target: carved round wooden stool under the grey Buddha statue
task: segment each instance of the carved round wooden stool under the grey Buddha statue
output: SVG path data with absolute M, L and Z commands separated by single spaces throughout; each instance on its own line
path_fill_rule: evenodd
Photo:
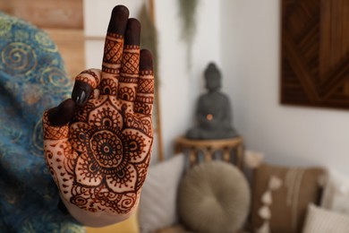
M 174 151 L 176 153 L 189 151 L 191 167 L 198 162 L 200 152 L 204 155 L 205 161 L 212 160 L 217 151 L 221 151 L 223 160 L 229 162 L 234 152 L 235 165 L 243 168 L 243 138 L 234 137 L 230 139 L 217 140 L 192 140 L 179 137 L 175 140 Z

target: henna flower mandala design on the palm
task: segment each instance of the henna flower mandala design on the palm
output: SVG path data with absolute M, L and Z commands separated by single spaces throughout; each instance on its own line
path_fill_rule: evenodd
M 79 154 L 72 159 L 71 202 L 82 209 L 125 213 L 138 200 L 145 179 L 140 165 L 149 165 L 152 135 L 127 121 L 121 105 L 112 96 L 91 99 L 70 125 L 69 141 Z

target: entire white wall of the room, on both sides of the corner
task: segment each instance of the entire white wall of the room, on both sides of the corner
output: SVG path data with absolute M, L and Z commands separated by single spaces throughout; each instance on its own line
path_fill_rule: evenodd
M 95 22 L 87 34 L 96 36 L 104 33 L 107 22 L 100 20 L 108 20 L 113 5 L 126 4 L 134 16 L 140 1 L 85 0 L 85 7 L 86 3 L 85 17 Z M 223 91 L 233 104 L 234 126 L 248 149 L 263 152 L 271 163 L 325 165 L 349 174 L 349 112 L 279 104 L 279 0 L 201 0 L 190 72 L 180 40 L 177 0 L 155 3 L 166 157 L 173 153 L 175 137 L 192 125 L 202 71 L 215 61 L 223 73 Z M 100 64 L 102 46 L 96 40 L 87 43 L 89 66 Z

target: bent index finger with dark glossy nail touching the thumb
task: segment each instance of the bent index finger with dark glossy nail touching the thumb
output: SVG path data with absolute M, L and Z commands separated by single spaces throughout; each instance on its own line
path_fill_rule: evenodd
M 72 89 L 72 99 L 76 105 L 84 106 L 89 98 L 96 98 L 91 93 L 98 87 L 100 80 L 101 71 L 98 69 L 89 69 L 76 76 Z

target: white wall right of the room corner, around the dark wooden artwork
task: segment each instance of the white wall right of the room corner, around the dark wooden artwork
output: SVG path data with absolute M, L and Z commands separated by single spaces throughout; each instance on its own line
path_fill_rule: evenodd
M 349 174 L 349 111 L 279 104 L 279 2 L 222 0 L 222 66 L 234 125 L 268 162 Z

